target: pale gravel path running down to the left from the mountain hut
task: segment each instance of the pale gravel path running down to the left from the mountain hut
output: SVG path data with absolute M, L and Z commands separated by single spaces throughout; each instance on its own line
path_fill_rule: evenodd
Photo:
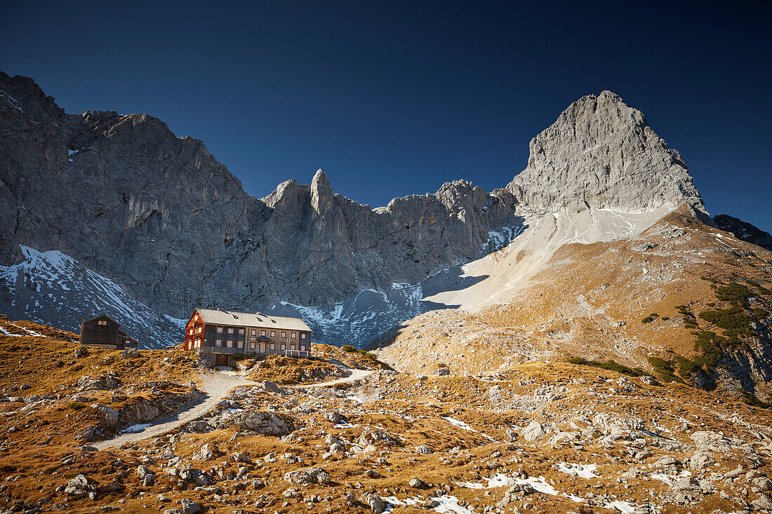
M 194 420 L 205 414 L 209 409 L 215 406 L 218 401 L 228 395 L 234 387 L 242 385 L 255 384 L 252 380 L 239 377 L 233 371 L 218 371 L 213 374 L 201 374 L 199 375 L 200 383 L 198 388 L 204 391 L 205 397 L 197 404 L 193 404 L 188 407 L 186 411 L 179 411 L 171 414 L 167 418 L 162 419 L 157 424 L 151 424 L 151 426 L 145 428 L 143 431 L 134 432 L 130 434 L 121 434 L 107 441 L 99 441 L 93 443 L 93 447 L 100 450 L 106 448 L 113 448 L 115 446 L 125 445 L 126 443 L 132 443 L 141 441 L 147 438 L 153 438 L 157 435 L 164 434 L 164 432 L 170 431 L 173 428 L 177 428 L 181 424 L 185 424 L 188 421 Z

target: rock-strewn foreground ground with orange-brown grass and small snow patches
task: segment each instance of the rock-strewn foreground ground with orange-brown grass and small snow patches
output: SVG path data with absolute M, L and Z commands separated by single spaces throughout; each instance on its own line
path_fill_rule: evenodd
M 195 362 L 96 350 L 60 377 L 25 350 L 36 340 L 0 336 L 12 367 L 43 363 L 36 388 L 11 391 L 23 381 L 3 360 L 2 512 L 772 512 L 770 411 L 685 384 L 565 363 L 373 367 L 336 387 L 236 387 L 164 435 L 97 451 L 76 435 L 113 404 L 83 385 L 113 377 L 127 394 L 140 382 L 120 363 L 144 359 L 144 380 L 182 387 Z M 64 362 L 76 345 L 60 344 Z M 73 410 L 73 394 L 93 403 Z

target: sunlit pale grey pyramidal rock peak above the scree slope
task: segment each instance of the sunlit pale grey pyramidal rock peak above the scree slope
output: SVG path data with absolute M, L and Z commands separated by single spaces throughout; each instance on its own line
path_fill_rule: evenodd
M 528 166 L 508 189 L 521 204 L 547 211 L 682 203 L 704 210 L 681 154 L 611 91 L 581 97 L 534 137 Z

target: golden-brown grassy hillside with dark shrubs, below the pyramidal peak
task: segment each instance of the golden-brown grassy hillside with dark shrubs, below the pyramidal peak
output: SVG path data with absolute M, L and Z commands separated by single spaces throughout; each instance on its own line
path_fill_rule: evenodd
M 506 254 L 493 255 L 499 266 Z M 703 224 L 685 205 L 635 237 L 562 246 L 509 301 L 422 314 L 373 347 L 396 369 L 425 374 L 614 360 L 770 402 L 770 289 L 772 253 Z

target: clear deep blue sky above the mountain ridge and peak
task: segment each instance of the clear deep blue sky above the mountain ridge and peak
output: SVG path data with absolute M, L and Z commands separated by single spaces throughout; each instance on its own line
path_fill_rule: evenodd
M 67 112 L 159 117 L 259 197 L 318 167 L 374 207 L 456 178 L 490 191 L 608 89 L 711 214 L 772 232 L 767 2 L 3 3 L 0 69 Z

